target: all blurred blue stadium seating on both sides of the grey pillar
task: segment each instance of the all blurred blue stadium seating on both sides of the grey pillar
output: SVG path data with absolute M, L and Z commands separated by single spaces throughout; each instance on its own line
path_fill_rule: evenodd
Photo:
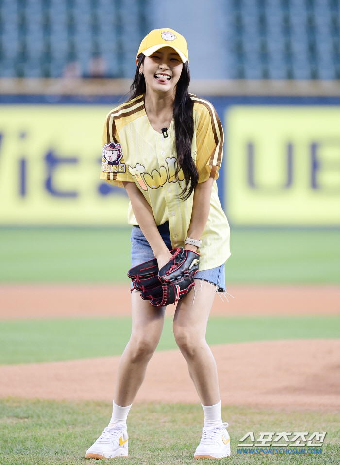
M 210 1 L 228 25 L 225 79 L 340 79 L 339 0 Z M 131 77 L 141 38 L 158 27 L 151 9 L 150 0 L 0 0 L 0 77 Z

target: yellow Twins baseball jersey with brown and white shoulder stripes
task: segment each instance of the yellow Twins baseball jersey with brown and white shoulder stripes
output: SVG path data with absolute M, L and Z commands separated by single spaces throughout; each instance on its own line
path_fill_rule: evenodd
M 216 179 L 223 156 L 223 129 L 213 105 L 190 94 L 194 102 L 192 158 L 199 172 L 199 182 L 206 181 L 216 167 L 210 212 L 199 249 L 200 271 L 222 265 L 230 256 L 229 224 L 217 195 Z M 152 207 L 157 226 L 169 221 L 173 248 L 184 247 L 190 225 L 193 194 L 179 200 L 184 186 L 183 172 L 176 180 L 177 163 L 173 122 L 168 137 L 151 126 L 144 107 L 144 97 L 123 103 L 106 117 L 101 179 L 123 187 L 123 181 L 135 182 Z M 128 223 L 138 225 L 129 205 Z

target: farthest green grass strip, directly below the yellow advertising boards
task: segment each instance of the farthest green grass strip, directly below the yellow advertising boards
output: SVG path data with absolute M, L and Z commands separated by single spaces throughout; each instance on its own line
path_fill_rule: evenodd
M 130 229 L 0 229 L 0 282 L 128 282 Z M 340 283 L 340 231 L 233 229 L 228 283 Z

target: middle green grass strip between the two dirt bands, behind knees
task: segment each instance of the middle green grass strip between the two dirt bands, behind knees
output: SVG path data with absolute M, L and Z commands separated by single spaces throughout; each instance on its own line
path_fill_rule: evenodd
M 0 364 L 52 362 L 122 354 L 130 318 L 0 321 Z M 339 338 L 339 316 L 211 317 L 207 342 Z M 166 318 L 157 350 L 177 348 L 172 319 Z

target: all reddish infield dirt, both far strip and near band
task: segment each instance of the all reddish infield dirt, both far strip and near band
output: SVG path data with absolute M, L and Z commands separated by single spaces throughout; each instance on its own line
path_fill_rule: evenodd
M 339 314 L 339 286 L 230 286 L 214 315 Z M 3 285 L 0 318 L 129 315 L 127 286 Z M 171 314 L 170 306 L 167 313 Z M 285 409 L 340 411 L 340 340 L 212 346 L 221 401 Z M 120 357 L 0 366 L 0 396 L 112 401 Z M 179 350 L 156 352 L 136 402 L 198 403 Z

